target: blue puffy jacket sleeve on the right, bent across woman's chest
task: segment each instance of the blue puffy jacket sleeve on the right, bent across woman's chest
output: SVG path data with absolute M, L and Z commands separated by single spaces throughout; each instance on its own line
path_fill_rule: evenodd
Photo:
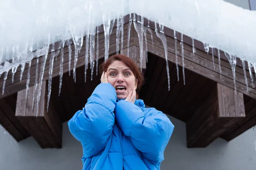
M 128 101 L 116 103 L 116 121 L 122 132 L 128 136 L 134 147 L 144 158 L 153 163 L 163 161 L 163 152 L 172 135 L 174 126 L 162 112 L 147 108 L 143 113 L 140 107 Z

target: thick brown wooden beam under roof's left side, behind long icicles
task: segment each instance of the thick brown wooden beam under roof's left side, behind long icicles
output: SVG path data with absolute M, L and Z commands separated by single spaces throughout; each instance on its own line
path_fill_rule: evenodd
M 47 82 L 44 81 L 42 84 L 38 105 L 36 100 L 38 89 L 36 89 L 35 92 L 34 102 L 33 92 L 34 86 L 29 88 L 27 95 L 26 89 L 18 92 L 15 115 L 42 148 L 61 148 L 62 123 L 51 102 L 49 104 L 48 112 L 46 110 Z

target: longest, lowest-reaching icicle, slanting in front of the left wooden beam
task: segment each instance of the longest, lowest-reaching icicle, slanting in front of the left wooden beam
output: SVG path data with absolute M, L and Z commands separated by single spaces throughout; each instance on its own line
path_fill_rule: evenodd
M 48 40 L 44 46 L 46 47 L 46 54 L 44 57 L 42 57 L 41 61 L 41 70 L 40 70 L 40 77 L 39 77 L 39 85 L 38 85 L 38 93 L 37 93 L 37 100 L 36 100 L 36 116 L 38 116 L 38 109 L 39 109 L 39 102 L 40 102 L 40 96 L 41 96 L 41 90 L 42 90 L 42 84 L 43 84 L 43 78 L 44 78 L 44 69 L 45 69 L 45 64 L 46 60 L 48 57 L 48 52 L 49 52 L 49 41 L 50 41 L 50 34 L 48 35 Z

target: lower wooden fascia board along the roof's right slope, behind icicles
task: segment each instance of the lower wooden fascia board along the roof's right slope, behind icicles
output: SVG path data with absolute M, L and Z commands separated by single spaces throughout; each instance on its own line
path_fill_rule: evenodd
M 150 43 L 150 42 L 148 42 Z M 138 39 L 136 37 L 134 37 L 134 44 L 137 45 L 138 44 Z M 159 47 L 157 46 L 157 44 L 154 45 L 154 51 L 153 49 L 150 48 L 150 46 L 148 46 L 148 51 L 152 52 L 162 58 L 165 58 L 165 53 L 164 53 L 164 49 L 163 47 Z M 172 49 L 172 50 L 169 50 Z M 172 52 L 170 52 L 172 51 Z M 175 53 L 174 53 L 174 47 L 173 46 L 168 46 L 168 60 L 172 61 L 173 63 L 175 63 Z M 178 64 L 180 66 L 182 66 L 182 61 L 181 61 L 181 56 L 180 54 L 178 54 Z M 224 71 L 222 72 L 223 76 L 222 78 L 220 78 L 220 74 L 218 72 L 213 71 L 212 69 L 212 62 L 208 61 L 204 58 L 201 58 L 200 56 L 193 56 L 192 53 L 187 52 L 186 50 L 184 50 L 184 65 L 186 69 L 189 69 L 193 72 L 196 72 L 200 75 L 203 75 L 213 81 L 219 82 L 225 86 L 228 86 L 230 88 L 234 88 L 234 84 L 233 84 L 233 78 L 228 78 L 224 75 L 226 75 L 224 73 Z M 216 66 L 217 67 L 217 66 Z M 215 68 L 216 69 L 216 68 Z M 248 87 L 248 91 L 246 88 L 246 85 L 241 84 L 240 82 L 236 81 L 236 88 L 238 92 L 244 93 L 252 98 L 256 98 L 256 89 L 255 87 Z

